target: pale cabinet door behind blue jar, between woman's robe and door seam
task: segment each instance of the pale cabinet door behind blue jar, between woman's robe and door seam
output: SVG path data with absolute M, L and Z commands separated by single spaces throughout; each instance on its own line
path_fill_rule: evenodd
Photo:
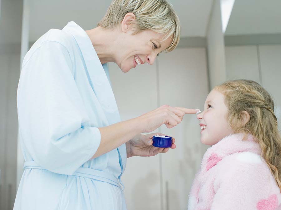
M 115 63 L 110 63 L 109 71 L 122 120 L 157 108 L 156 65 L 145 64 L 123 73 Z M 127 159 L 122 181 L 128 210 L 160 210 L 159 158 L 158 155 Z

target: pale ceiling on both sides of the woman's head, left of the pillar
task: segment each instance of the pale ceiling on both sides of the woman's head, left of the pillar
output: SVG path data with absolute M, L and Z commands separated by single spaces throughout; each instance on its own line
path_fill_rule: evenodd
M 30 1 L 30 41 L 51 28 L 62 29 L 74 21 L 84 30 L 96 27 L 111 0 L 32 0 Z M 177 12 L 181 36 L 205 37 L 213 0 L 170 0 Z

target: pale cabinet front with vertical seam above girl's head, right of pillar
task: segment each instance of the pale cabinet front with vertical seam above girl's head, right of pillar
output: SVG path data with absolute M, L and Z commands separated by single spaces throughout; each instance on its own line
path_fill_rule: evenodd
M 281 45 L 227 46 L 228 79 L 259 82 L 272 95 L 281 130 Z

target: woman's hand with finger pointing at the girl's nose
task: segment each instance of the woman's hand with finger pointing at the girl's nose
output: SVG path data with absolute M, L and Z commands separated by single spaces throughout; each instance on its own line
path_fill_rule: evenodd
M 200 110 L 163 105 L 139 116 L 137 119 L 141 126 L 144 126 L 141 133 L 149 133 L 159 128 L 162 124 L 165 124 L 167 128 L 173 128 L 182 121 L 185 114 L 196 114 L 198 111 Z

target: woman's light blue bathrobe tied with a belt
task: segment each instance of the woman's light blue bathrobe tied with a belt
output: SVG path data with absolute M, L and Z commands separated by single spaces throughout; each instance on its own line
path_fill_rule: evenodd
M 14 209 L 126 210 L 126 146 L 89 160 L 120 121 L 106 64 L 74 22 L 26 54 L 17 91 L 24 172 Z

